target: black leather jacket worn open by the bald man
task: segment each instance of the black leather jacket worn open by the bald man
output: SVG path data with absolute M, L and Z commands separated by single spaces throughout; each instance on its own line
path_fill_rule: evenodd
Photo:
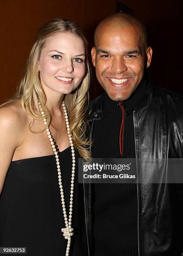
M 183 256 L 183 184 L 144 184 L 147 159 L 183 158 L 183 97 L 174 92 L 146 87 L 147 97 L 128 109 L 133 111 L 135 155 L 137 159 L 138 255 Z M 103 118 L 104 96 L 92 104 L 88 118 L 91 138 L 93 123 Z M 166 179 L 166 165 L 161 166 Z M 148 172 L 149 173 L 149 172 Z M 87 254 L 93 255 L 93 184 L 83 184 Z

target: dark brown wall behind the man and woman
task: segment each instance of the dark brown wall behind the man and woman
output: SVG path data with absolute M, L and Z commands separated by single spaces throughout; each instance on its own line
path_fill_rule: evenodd
M 155 84 L 183 94 L 183 1 L 119 0 L 145 23 L 153 61 L 149 69 Z M 115 13 L 116 0 L 7 0 L 0 2 L 0 103 L 8 99 L 18 85 L 35 33 L 46 21 L 62 17 L 75 20 L 87 32 L 90 46 L 98 22 Z M 95 78 L 95 74 L 93 74 Z M 95 84 L 95 85 L 94 85 Z M 95 89 L 97 88 L 97 90 Z M 92 83 L 92 96 L 101 93 Z

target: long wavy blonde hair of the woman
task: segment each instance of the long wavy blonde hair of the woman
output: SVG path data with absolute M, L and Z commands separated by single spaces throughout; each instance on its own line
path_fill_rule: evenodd
M 73 137 L 74 146 L 78 149 L 80 156 L 87 159 L 90 158 L 90 151 L 87 149 L 90 147 L 90 141 L 85 138 L 85 120 L 89 102 L 88 89 L 90 84 L 90 66 L 88 61 L 88 42 L 85 38 L 85 32 L 77 25 L 77 23 L 71 20 L 55 18 L 39 28 L 35 44 L 30 51 L 25 74 L 23 75 L 15 95 L 8 100 L 8 102 L 13 102 L 18 98 L 21 98 L 21 104 L 26 113 L 34 119 L 42 120 L 44 118 L 39 114 L 39 101 L 43 106 L 45 118 L 47 118 L 47 122 L 50 123 L 51 114 L 46 107 L 46 95 L 40 82 L 38 60 L 47 38 L 60 32 L 73 33 L 74 35 L 79 36 L 85 45 L 85 76 L 80 85 L 73 92 L 65 95 L 64 101 L 68 110 L 70 133 Z M 3 105 L 8 102 L 5 102 Z

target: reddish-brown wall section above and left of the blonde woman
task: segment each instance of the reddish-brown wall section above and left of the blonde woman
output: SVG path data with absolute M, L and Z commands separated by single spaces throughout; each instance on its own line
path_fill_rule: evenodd
M 57 17 L 83 26 L 84 6 L 84 0 L 0 1 L 0 103 L 15 92 L 38 28 Z

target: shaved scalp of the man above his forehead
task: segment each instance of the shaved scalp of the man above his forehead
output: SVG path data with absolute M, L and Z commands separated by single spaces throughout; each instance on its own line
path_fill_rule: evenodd
M 135 28 L 139 35 L 140 44 L 144 50 L 147 49 L 147 31 L 143 23 L 132 15 L 125 13 L 115 13 L 102 20 L 95 29 L 95 48 L 98 46 L 98 36 L 104 28 L 123 29 L 127 27 Z

